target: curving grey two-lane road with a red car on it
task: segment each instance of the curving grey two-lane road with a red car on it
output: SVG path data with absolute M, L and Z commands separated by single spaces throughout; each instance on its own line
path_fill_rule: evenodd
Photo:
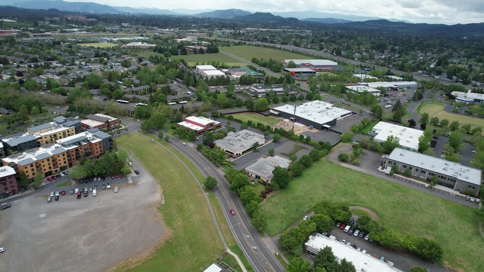
M 157 136 L 158 131 L 155 131 L 152 134 Z M 237 195 L 229 190 L 229 183 L 223 174 L 202 154 L 196 151 L 190 143 L 182 145 L 181 140 L 171 136 L 171 144 L 188 160 L 196 165 L 204 176 L 212 176 L 217 179 L 218 186 L 214 190 L 215 194 L 220 202 L 230 230 L 241 247 L 245 257 L 252 265 L 252 268 L 258 272 L 284 271 L 279 262 L 263 244 L 255 228 L 251 225 L 250 218 L 248 218 L 245 213 L 242 203 L 239 201 Z M 236 212 L 235 216 L 230 214 L 231 209 Z

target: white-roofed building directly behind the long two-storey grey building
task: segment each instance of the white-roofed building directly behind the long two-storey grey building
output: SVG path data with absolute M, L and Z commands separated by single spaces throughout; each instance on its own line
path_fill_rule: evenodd
M 424 135 L 424 132 L 421 130 L 402 127 L 387 122 L 378 122 L 371 132 L 376 134 L 373 138 L 376 142 L 384 142 L 389 136 L 394 136 L 400 140 L 401 147 L 410 150 L 419 149 L 419 138 Z

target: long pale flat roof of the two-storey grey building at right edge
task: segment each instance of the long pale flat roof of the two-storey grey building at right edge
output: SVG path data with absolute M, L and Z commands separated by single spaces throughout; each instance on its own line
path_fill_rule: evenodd
M 432 172 L 454 177 L 468 183 L 481 186 L 482 171 L 459 163 L 449 162 L 441 158 L 435 158 L 418 152 L 402 148 L 393 149 L 388 156 L 389 160 L 420 166 Z

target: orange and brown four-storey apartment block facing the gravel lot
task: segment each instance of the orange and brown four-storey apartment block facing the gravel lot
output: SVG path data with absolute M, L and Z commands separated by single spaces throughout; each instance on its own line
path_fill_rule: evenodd
M 98 157 L 112 146 L 112 136 L 95 129 L 57 140 L 55 144 L 8 156 L 2 159 L 2 163 L 17 172 L 24 172 L 28 179 L 33 179 L 37 172 L 47 177 L 72 167 L 83 156 L 87 159 Z

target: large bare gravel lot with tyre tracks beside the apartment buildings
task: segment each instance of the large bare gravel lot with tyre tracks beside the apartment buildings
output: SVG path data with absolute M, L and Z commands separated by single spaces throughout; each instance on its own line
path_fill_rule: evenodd
M 116 193 L 112 186 L 97 196 L 69 195 L 71 188 L 93 182 L 12 198 L 12 207 L 1 213 L 0 245 L 6 250 L 0 271 L 105 271 L 156 245 L 165 234 L 156 210 L 159 186 L 137 161 L 133 164 L 140 175 L 132 184 L 116 180 Z M 50 190 L 66 195 L 48 203 Z

